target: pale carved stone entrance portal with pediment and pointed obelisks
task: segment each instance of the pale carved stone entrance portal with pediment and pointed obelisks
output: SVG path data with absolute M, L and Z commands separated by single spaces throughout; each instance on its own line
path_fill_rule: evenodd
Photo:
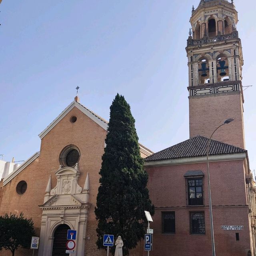
M 72 229 L 77 230 L 76 244 L 78 245 L 76 246 L 76 252 L 72 255 L 84 256 L 87 215 L 90 208 L 88 202 L 89 174 L 87 174 L 84 188 L 78 185 L 80 176 L 78 164 L 74 168 L 60 166 L 55 175 L 57 185 L 52 188 L 50 177 L 46 187 L 44 204 L 40 206 L 43 212 L 38 255 L 66 256 L 66 253 L 60 254 L 56 251 L 59 248 L 56 239 L 62 240 L 61 237 L 63 236 L 63 239 L 67 241 L 67 230 Z M 64 229 L 64 226 L 68 229 Z M 65 233 L 65 236 L 62 232 Z M 60 248 L 63 248 L 63 246 L 60 246 Z

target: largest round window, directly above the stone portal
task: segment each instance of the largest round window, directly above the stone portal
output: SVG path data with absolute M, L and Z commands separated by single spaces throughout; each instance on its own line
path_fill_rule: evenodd
M 80 159 L 80 151 L 74 146 L 67 146 L 60 153 L 60 164 L 63 167 L 74 167 Z

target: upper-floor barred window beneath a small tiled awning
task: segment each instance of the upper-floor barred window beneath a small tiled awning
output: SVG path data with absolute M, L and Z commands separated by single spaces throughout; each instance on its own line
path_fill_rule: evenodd
M 188 205 L 203 205 L 202 178 L 188 179 Z

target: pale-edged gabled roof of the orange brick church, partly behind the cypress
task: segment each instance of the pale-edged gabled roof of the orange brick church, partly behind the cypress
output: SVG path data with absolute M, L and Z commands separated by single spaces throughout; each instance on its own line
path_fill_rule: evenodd
M 40 137 L 40 139 L 44 138 L 44 136 L 46 136 L 46 134 L 48 134 L 48 132 L 50 132 L 50 130 L 52 130 L 52 128 L 54 128 L 54 126 L 56 126 L 56 124 L 58 124 L 58 122 L 60 122 L 60 120 L 62 120 L 62 118 L 64 118 L 64 116 L 66 116 L 66 114 L 68 114 L 68 112 L 70 112 L 70 110 L 72 110 L 74 107 L 78 108 L 79 110 L 81 110 L 84 114 L 86 114 L 86 116 L 88 116 L 89 118 L 91 118 L 94 122 L 96 122 L 99 126 L 101 126 L 104 130 L 108 130 L 108 121 L 105 120 L 104 118 L 102 118 L 101 116 L 99 116 L 98 114 L 94 113 L 92 110 L 90 110 L 89 108 L 86 108 L 85 106 L 83 106 L 82 104 L 80 104 L 79 102 L 77 102 L 76 100 L 74 100 L 70 105 L 68 105 L 38 136 Z M 150 149 L 146 148 L 145 146 L 143 146 L 142 144 L 139 143 L 140 146 L 140 150 L 142 150 L 145 154 L 153 154 L 154 152 L 152 152 Z

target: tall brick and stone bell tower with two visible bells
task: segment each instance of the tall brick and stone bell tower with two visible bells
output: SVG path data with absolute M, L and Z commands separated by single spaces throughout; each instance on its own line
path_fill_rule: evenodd
M 243 124 L 241 40 L 236 30 L 233 0 L 201 0 L 192 8 L 186 52 L 189 75 L 190 138 L 213 137 L 245 148 Z

